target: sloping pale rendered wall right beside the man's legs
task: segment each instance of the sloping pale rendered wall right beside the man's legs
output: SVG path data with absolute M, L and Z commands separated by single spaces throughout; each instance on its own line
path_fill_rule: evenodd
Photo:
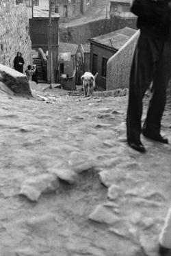
M 140 31 L 137 31 L 107 62 L 106 90 L 129 87 L 133 53 Z

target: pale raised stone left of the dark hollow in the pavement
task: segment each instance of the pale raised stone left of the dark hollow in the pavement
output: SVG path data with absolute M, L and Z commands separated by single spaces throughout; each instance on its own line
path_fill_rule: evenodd
M 54 192 L 59 186 L 59 181 L 53 174 L 44 174 L 31 177 L 24 181 L 20 194 L 27 196 L 31 201 L 38 201 L 40 195 L 46 192 Z

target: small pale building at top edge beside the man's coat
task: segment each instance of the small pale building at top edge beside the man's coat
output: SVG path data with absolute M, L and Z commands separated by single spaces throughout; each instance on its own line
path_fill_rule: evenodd
M 130 11 L 131 0 L 110 0 L 110 18 L 114 16 L 133 17 Z

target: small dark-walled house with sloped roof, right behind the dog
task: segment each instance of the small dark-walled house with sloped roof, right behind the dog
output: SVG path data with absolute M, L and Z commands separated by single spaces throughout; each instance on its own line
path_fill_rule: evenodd
M 107 60 L 114 55 L 135 34 L 129 27 L 90 39 L 90 71 L 98 73 L 96 84 L 106 89 Z

